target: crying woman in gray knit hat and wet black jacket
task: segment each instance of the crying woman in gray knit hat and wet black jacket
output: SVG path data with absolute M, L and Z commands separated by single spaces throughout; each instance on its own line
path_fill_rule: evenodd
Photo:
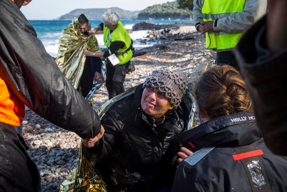
M 171 190 L 180 145 L 170 136 L 187 128 L 191 113 L 186 85 L 183 72 L 155 70 L 112 102 L 102 139 L 84 147 L 108 191 Z

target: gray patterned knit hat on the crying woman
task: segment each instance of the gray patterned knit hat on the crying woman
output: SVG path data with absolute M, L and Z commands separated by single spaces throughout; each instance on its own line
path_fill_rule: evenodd
M 155 70 L 146 78 L 143 88 L 151 87 L 158 90 L 171 106 L 177 108 L 185 94 L 187 76 L 181 71 L 170 71 L 167 69 Z

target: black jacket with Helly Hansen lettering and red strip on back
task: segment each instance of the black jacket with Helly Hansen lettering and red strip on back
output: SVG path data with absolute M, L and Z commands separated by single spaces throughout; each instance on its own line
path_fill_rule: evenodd
M 253 113 L 219 117 L 172 138 L 195 151 L 179 164 L 174 192 L 287 190 L 287 158 L 269 151 Z

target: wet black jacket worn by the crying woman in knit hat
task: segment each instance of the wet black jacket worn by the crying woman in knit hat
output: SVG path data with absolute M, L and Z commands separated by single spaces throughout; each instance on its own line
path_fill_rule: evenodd
M 102 117 L 105 132 L 99 145 L 85 147 L 109 190 L 154 191 L 172 184 L 179 143 L 170 136 L 184 130 L 191 108 L 184 95 L 177 109 L 153 127 L 152 119 L 141 109 L 142 92 L 141 84 L 134 94 L 115 102 Z

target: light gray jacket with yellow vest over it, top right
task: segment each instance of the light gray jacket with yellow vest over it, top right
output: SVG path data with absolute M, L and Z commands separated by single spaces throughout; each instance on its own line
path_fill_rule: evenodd
M 266 13 L 267 0 L 194 0 L 193 23 L 213 21 L 205 34 L 206 48 L 217 52 L 232 50 L 242 33 Z

